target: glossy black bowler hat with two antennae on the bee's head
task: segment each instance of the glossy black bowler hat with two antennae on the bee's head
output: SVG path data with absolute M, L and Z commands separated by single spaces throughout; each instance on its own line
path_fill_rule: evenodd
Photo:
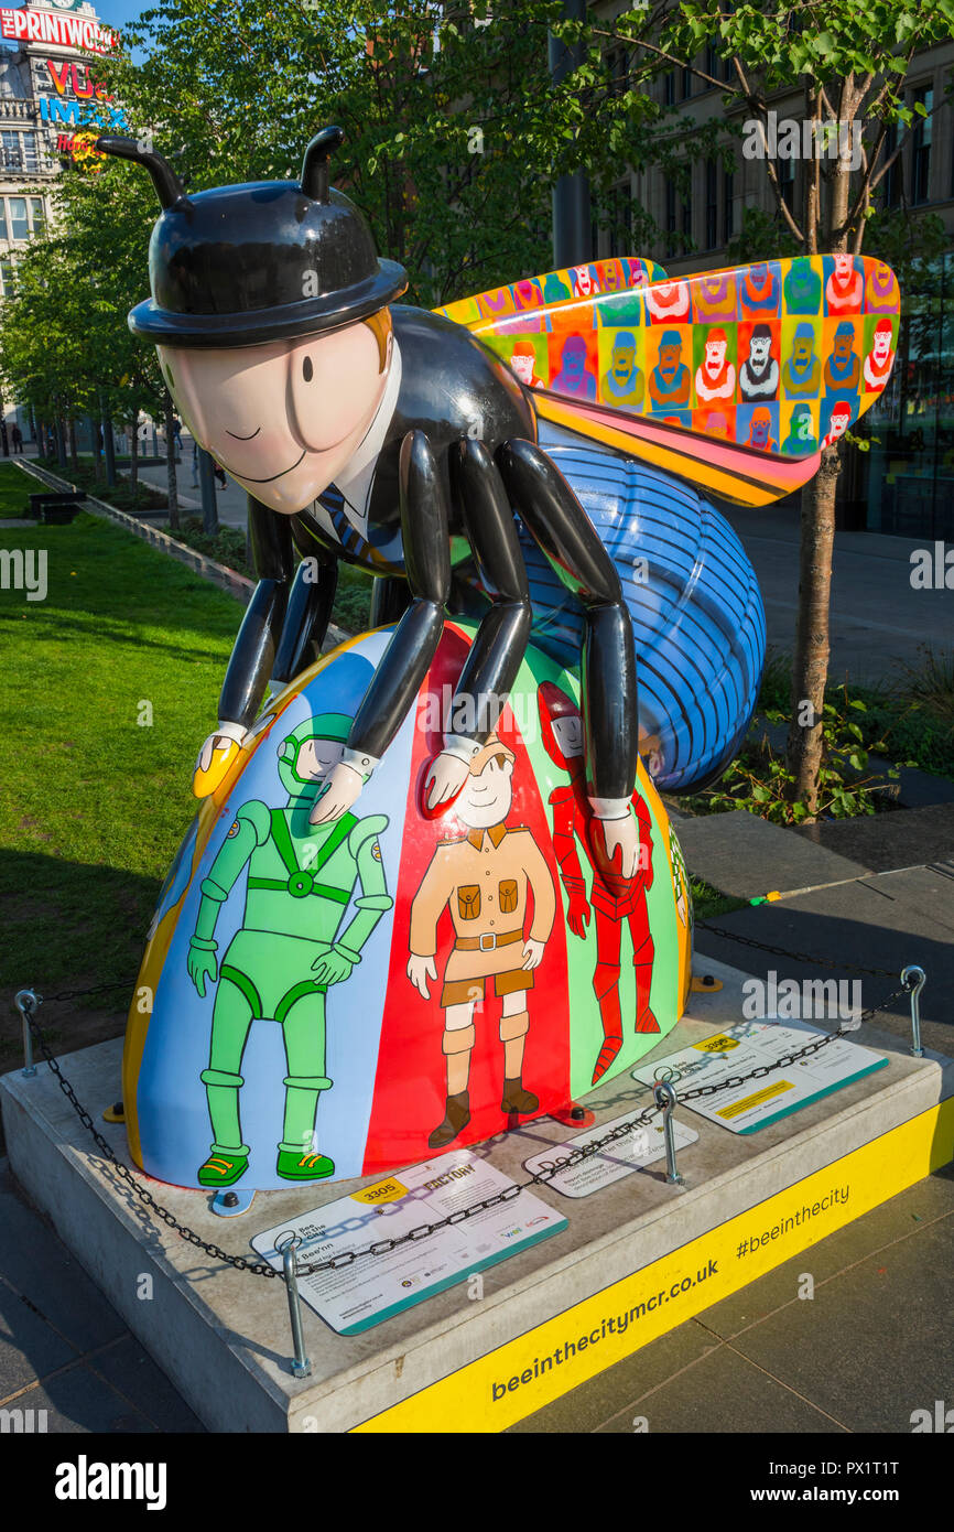
M 133 336 L 165 346 L 256 346 L 338 329 L 407 286 L 378 260 L 368 222 L 328 184 L 343 132 L 305 150 L 302 182 L 253 181 L 187 195 L 172 165 L 135 138 L 96 149 L 145 165 L 162 204 L 149 244 L 153 296 L 129 316 Z

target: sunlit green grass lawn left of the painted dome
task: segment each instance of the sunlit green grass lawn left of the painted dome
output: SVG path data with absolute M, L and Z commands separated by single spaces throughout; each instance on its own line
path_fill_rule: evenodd
M 242 608 L 95 516 L 9 529 L 44 548 L 47 596 L 0 590 L 0 1068 L 12 993 L 126 980 L 194 800 L 190 769 L 216 720 Z M 152 705 L 152 726 L 138 720 Z M 80 1002 L 83 1003 L 83 1002 Z M 66 1046 L 123 1030 L 129 991 L 70 1020 Z M 72 1011 L 74 1007 L 70 1005 Z M 55 1036 L 63 1007 L 44 1007 Z

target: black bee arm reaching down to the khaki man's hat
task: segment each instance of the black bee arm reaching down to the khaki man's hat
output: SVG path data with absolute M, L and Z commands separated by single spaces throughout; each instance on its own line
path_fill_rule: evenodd
M 482 745 L 496 728 L 527 651 L 530 587 L 510 501 L 490 452 L 482 441 L 461 441 L 455 466 L 470 547 L 492 607 L 461 671 L 452 717 L 461 715 L 458 699 L 473 699 L 473 728 L 461 732 Z

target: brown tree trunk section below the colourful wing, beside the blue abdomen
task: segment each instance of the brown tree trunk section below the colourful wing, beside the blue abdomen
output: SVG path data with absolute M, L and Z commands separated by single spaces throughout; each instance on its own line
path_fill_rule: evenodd
M 792 665 L 792 715 L 787 764 L 795 775 L 792 801 L 818 809 L 818 772 L 822 758 L 822 714 L 831 651 L 828 610 L 831 604 L 831 555 L 835 552 L 835 490 L 841 472 L 838 444 L 825 447 L 821 467 L 801 496 L 801 550 L 798 571 L 798 620 Z

